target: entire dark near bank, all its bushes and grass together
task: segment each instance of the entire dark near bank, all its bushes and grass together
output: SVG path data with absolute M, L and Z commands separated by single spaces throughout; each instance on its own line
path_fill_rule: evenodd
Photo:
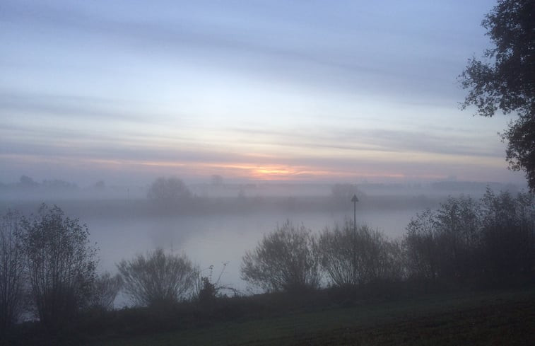
M 255 296 L 162 249 L 99 274 L 88 229 L 56 206 L 1 221 L 6 345 L 524 345 L 533 335 L 530 194 L 451 197 L 400 239 L 348 220 L 319 233 L 286 221 L 242 258 L 242 279 L 265 292 Z M 131 307 L 113 308 L 119 292 Z

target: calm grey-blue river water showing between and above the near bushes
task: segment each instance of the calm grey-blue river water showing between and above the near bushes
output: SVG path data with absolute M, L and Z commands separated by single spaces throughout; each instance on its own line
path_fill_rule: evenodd
M 358 214 L 358 223 L 369 224 L 392 237 L 401 236 L 418 209 L 394 212 L 371 211 Z M 115 264 L 136 253 L 163 248 L 186 253 L 201 269 L 214 265 L 214 272 L 228 263 L 222 280 L 245 289 L 240 279 L 240 263 L 246 250 L 252 250 L 265 233 L 286 219 L 304 224 L 314 232 L 343 224 L 353 218 L 348 212 L 266 212 L 242 215 L 180 215 L 164 217 L 106 218 L 88 217 L 91 239 L 100 248 L 102 270 L 115 271 Z

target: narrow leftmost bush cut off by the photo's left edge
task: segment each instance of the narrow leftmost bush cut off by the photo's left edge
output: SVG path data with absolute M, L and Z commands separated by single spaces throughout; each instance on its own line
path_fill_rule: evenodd
M 0 333 L 23 312 L 25 261 L 20 248 L 20 215 L 8 211 L 0 219 Z

